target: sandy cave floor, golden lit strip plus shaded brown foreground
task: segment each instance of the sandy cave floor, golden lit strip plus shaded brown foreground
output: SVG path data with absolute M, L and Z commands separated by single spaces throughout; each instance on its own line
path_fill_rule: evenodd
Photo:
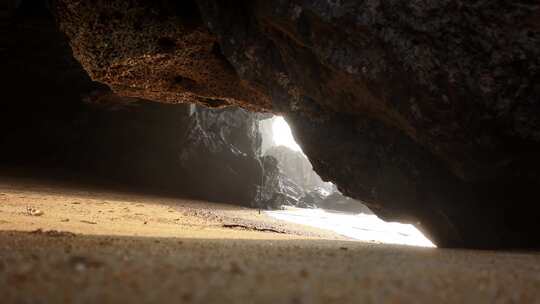
M 540 254 L 362 243 L 230 205 L 0 178 L 0 297 L 540 303 Z

